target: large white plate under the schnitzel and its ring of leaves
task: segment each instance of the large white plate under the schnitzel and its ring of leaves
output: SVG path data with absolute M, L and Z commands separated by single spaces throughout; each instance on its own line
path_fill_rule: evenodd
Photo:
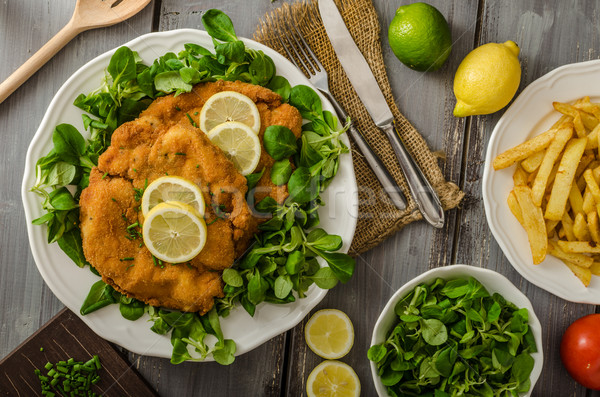
M 288 79 L 292 86 L 310 85 L 304 75 L 279 53 L 251 40 L 244 43 L 269 55 L 277 67 L 277 74 Z M 185 43 L 197 43 L 212 49 L 212 41 L 204 31 L 181 29 L 169 32 L 150 33 L 138 37 L 124 45 L 137 51 L 142 59 L 150 64 L 155 58 L 166 52 L 179 52 Z M 29 191 L 35 183 L 36 160 L 45 156 L 52 147 L 52 131 L 60 123 L 70 123 L 84 133 L 81 120 L 82 111 L 73 106 L 73 100 L 80 93 L 88 93 L 100 85 L 113 51 L 98 56 L 79 69 L 57 92 L 50 103 L 42 123 L 36 132 L 25 162 L 22 197 L 27 219 L 27 232 L 33 257 L 42 277 L 54 294 L 69 309 L 79 314 L 79 308 L 87 296 L 90 286 L 98 280 L 86 267 L 79 269 L 58 247 L 48 245 L 46 227 L 34 226 L 32 219 L 42 215 L 40 197 Z M 324 97 L 324 108 L 333 112 L 333 108 Z M 349 146 L 346 136 L 342 138 Z M 352 242 L 358 214 L 358 189 L 354 178 L 351 155 L 345 154 L 334 181 L 323 194 L 327 206 L 319 210 L 321 226 L 329 233 L 342 237 L 342 251 L 347 252 Z M 225 319 L 222 328 L 226 338 L 235 340 L 237 353 L 248 352 L 272 337 L 294 327 L 324 297 L 326 291 L 313 285 L 304 299 L 287 305 L 262 304 L 254 317 L 244 309 L 237 307 Z M 82 316 L 81 319 L 98 335 L 117 343 L 132 352 L 157 357 L 171 357 L 172 346 L 169 336 L 160 336 L 150 331 L 148 317 L 131 322 L 119 313 L 117 305 L 101 309 Z

